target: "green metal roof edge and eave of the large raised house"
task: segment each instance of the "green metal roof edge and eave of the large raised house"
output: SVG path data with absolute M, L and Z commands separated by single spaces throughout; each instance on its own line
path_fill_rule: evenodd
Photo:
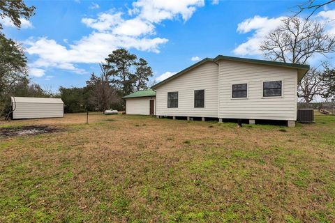
M 183 75 L 188 70 L 192 70 L 193 68 L 196 68 L 203 63 L 206 62 L 214 62 L 216 63 L 219 60 L 228 60 L 228 61 L 239 61 L 239 62 L 245 62 L 245 63 L 256 63 L 256 64 L 262 64 L 262 65 L 269 65 L 269 66 L 279 66 L 284 68 L 295 68 L 298 70 L 298 82 L 304 77 L 306 72 L 309 70 L 309 65 L 304 64 L 296 64 L 296 63 L 283 63 L 283 62 L 276 62 L 276 61 L 264 61 L 264 60 L 258 60 L 258 59 L 248 59 L 248 58 L 241 58 L 241 57 L 234 57 L 234 56 L 223 56 L 218 55 L 216 58 L 205 58 L 199 61 L 198 63 L 194 63 L 192 66 L 189 66 L 188 68 L 181 70 L 180 72 L 177 72 L 177 74 L 172 75 L 171 77 L 163 80 L 162 82 L 159 82 L 158 84 L 155 84 L 154 86 L 151 86 L 151 89 L 156 89 L 156 87 L 161 86 L 165 82 L 169 82 L 171 79 L 174 79 L 176 77 L 179 77 L 180 75 Z

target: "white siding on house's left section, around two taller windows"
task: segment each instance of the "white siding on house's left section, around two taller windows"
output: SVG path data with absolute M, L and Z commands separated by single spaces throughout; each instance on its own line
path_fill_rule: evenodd
M 194 91 L 204 89 L 204 107 L 194 107 Z M 168 92 L 178 91 L 178 107 L 168 108 Z M 158 116 L 218 116 L 218 66 L 207 62 L 156 89 Z

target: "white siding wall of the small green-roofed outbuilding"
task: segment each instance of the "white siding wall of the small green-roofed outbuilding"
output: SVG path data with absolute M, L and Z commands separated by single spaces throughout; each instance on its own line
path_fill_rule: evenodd
M 127 98 L 126 99 L 126 114 L 150 114 L 150 100 L 155 100 L 154 97 L 145 98 Z M 156 102 L 154 102 L 154 107 Z M 154 108 L 155 111 L 155 108 Z

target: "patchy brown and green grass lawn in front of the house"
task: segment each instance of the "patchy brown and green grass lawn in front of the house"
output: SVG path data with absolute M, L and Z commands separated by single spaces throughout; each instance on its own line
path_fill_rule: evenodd
M 0 222 L 335 222 L 335 116 L 285 128 L 85 114 L 2 121 Z

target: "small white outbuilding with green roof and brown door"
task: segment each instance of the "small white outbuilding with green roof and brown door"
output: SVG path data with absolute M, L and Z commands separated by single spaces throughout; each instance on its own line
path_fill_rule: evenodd
M 156 114 L 156 91 L 136 91 L 123 98 L 126 100 L 126 114 Z

